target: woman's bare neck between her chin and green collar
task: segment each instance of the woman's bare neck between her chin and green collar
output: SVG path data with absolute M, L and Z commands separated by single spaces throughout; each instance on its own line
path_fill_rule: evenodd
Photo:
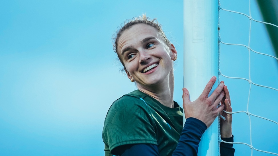
M 137 85 L 138 89 L 143 93 L 150 95 L 158 100 L 164 106 L 174 108 L 174 75 L 173 69 L 169 73 L 168 77 L 161 83 L 152 86 Z

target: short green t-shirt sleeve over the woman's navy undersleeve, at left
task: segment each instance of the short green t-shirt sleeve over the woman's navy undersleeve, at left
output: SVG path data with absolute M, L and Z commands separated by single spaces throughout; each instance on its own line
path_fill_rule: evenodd
M 123 96 L 116 100 L 105 118 L 103 141 L 113 149 L 127 144 L 157 145 L 154 123 L 148 106 L 136 97 Z

